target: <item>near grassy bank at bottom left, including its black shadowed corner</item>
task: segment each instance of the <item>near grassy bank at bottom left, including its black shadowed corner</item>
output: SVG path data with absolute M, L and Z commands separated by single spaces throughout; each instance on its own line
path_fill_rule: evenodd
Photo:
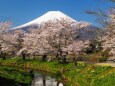
M 32 82 L 32 77 L 33 74 L 30 74 L 29 71 L 0 66 L 0 86 L 29 86 Z

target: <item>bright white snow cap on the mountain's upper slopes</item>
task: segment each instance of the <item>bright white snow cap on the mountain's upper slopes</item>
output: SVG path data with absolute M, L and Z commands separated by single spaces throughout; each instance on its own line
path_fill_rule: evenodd
M 55 20 L 61 20 L 61 19 L 69 19 L 73 22 L 77 22 L 76 20 L 70 18 L 69 16 L 67 16 L 66 14 L 64 14 L 60 11 L 49 11 L 49 12 L 45 13 L 44 15 L 42 15 L 41 17 L 39 17 L 33 21 L 30 21 L 26 24 L 23 24 L 21 26 L 15 27 L 13 29 L 24 28 L 24 27 L 28 27 L 28 26 L 32 26 L 32 25 L 40 25 L 43 22 L 55 21 Z

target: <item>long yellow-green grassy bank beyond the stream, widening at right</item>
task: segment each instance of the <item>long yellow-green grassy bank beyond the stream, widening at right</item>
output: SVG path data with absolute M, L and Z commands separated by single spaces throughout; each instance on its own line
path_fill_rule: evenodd
M 110 66 L 84 65 L 73 63 L 59 64 L 56 61 L 40 62 L 37 60 L 7 59 L 0 60 L 1 66 L 13 66 L 34 69 L 62 76 L 65 86 L 114 86 L 115 68 Z

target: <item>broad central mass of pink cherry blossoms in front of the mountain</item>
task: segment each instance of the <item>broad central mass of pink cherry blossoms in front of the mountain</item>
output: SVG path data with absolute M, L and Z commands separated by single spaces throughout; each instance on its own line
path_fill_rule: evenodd
M 37 29 L 29 29 L 24 34 L 24 48 L 31 55 L 43 55 L 44 59 L 47 57 L 46 55 L 50 54 L 53 58 L 56 56 L 56 59 L 59 60 L 61 57 L 66 62 L 66 55 L 71 52 L 70 45 L 75 42 L 76 46 L 72 48 L 76 48 L 76 51 L 73 53 L 78 53 L 85 48 L 85 43 L 93 36 L 92 33 L 95 33 L 88 29 L 88 26 L 90 26 L 89 23 L 77 23 L 64 19 L 56 22 L 48 21 Z M 91 35 L 88 37 L 84 31 L 87 35 Z M 51 59 L 48 58 L 48 61 Z

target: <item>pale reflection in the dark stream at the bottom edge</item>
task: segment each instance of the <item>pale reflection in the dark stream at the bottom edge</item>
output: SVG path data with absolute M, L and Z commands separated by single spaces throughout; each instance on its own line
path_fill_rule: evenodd
M 32 86 L 63 86 L 63 84 L 58 83 L 55 78 L 50 76 L 35 73 Z

